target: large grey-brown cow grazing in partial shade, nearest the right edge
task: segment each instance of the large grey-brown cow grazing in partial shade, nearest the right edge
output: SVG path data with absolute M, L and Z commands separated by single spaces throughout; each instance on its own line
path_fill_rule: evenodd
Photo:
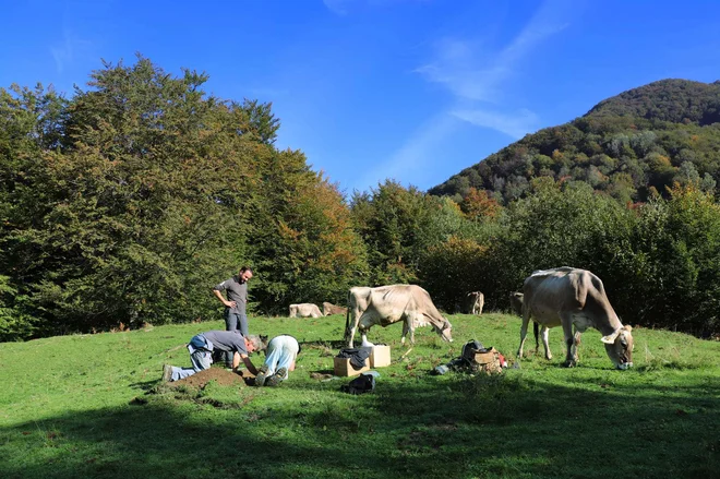
M 600 278 L 586 270 L 557 267 L 536 271 L 523 284 L 523 327 L 517 356 L 523 356 L 523 344 L 530 318 L 545 327 L 563 326 L 567 355 L 565 366 L 577 364 L 580 334 L 592 326 L 603 336 L 605 352 L 617 369 L 633 366 L 633 328 L 623 326 L 612 309 Z M 573 334 L 575 326 L 575 334 Z M 551 357 L 543 335 L 545 356 Z

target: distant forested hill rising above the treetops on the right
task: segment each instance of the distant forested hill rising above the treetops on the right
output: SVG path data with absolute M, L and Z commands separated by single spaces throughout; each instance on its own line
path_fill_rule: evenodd
M 576 180 L 624 203 L 667 195 L 674 182 L 720 180 L 720 82 L 663 80 L 605 99 L 587 115 L 548 128 L 466 168 L 429 193 L 466 197 L 485 190 L 503 204 L 533 178 Z

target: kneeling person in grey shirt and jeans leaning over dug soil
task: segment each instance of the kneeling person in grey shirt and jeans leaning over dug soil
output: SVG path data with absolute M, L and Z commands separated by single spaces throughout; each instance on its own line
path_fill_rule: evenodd
M 240 361 L 242 360 L 251 373 L 257 374 L 257 369 L 250 360 L 250 354 L 260 351 L 263 348 L 264 345 L 260 337 L 255 335 L 244 337 L 239 330 L 201 333 L 193 336 L 188 344 L 192 368 L 178 368 L 177 366 L 165 364 L 163 367 L 163 381 L 179 381 L 209 369 L 213 363 L 213 351 L 216 350 L 232 354 L 233 371 L 238 370 L 238 366 L 240 366 Z

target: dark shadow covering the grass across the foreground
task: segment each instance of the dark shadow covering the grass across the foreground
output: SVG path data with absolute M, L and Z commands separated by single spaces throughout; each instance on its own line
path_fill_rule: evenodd
M 147 395 L 21 424 L 0 435 L 0 476 L 706 478 L 720 467 L 717 382 L 668 398 L 521 373 L 381 378 L 361 396 L 344 383 L 288 381 L 263 391 L 285 402 L 221 411 Z

